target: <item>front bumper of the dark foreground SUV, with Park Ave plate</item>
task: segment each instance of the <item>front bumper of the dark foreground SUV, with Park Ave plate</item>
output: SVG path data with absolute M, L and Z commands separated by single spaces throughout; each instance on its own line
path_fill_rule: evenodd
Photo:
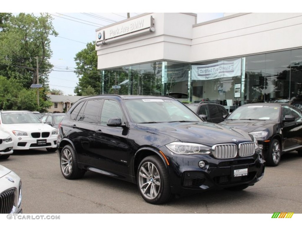
M 166 150 L 167 151 L 167 150 Z M 167 152 L 166 152 L 167 153 Z M 168 155 L 168 154 L 167 154 Z M 178 155 L 169 153 L 172 193 L 183 194 L 213 189 L 254 185 L 264 175 L 265 161 L 259 149 L 249 157 L 215 159 L 212 155 Z M 198 163 L 203 160 L 203 168 Z M 237 174 L 243 171 L 243 174 Z

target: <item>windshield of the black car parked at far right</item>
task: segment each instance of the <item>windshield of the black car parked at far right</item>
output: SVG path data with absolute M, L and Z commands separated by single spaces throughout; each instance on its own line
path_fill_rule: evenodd
M 227 120 L 277 120 L 279 113 L 278 106 L 241 106 L 233 111 Z

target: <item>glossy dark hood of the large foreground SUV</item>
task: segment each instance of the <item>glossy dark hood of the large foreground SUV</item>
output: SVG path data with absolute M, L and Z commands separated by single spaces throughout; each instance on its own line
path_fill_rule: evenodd
M 237 128 L 209 122 L 173 122 L 156 124 L 137 124 L 137 127 L 174 137 L 182 142 L 201 143 L 213 146 L 218 143 L 238 143 L 253 141 L 248 133 Z

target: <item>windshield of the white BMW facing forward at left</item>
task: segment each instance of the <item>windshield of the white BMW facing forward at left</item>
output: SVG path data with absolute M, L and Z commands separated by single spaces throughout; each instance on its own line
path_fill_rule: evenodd
M 1 114 L 3 124 L 17 123 L 41 123 L 41 121 L 31 112 L 7 112 Z

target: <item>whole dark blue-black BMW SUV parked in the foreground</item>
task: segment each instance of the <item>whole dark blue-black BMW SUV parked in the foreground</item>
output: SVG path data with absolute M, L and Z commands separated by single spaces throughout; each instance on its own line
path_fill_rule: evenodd
M 127 180 L 152 204 L 172 194 L 243 190 L 264 174 L 262 150 L 252 135 L 204 122 L 172 97 L 85 97 L 58 130 L 65 178 L 93 171 Z

